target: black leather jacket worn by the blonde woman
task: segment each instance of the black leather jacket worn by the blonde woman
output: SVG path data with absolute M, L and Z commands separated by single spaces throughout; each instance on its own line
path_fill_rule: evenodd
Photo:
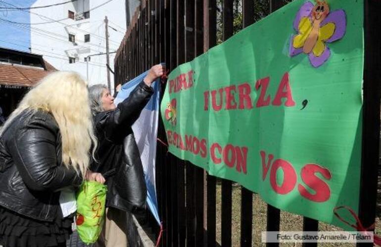
M 0 206 L 45 221 L 56 217 L 59 189 L 82 178 L 62 165 L 61 135 L 47 112 L 24 111 L 0 138 Z

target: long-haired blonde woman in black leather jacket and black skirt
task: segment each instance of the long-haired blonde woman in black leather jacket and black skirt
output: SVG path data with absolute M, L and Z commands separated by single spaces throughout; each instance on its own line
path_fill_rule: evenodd
M 96 147 L 86 82 L 55 72 L 31 89 L 0 129 L 0 245 L 65 247 L 73 214 L 63 217 L 60 191 L 88 171 Z M 94 149 L 93 149 L 94 150 Z

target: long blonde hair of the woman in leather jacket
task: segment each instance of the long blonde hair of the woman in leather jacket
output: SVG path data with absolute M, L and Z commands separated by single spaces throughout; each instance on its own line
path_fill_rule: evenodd
M 21 100 L 0 129 L 0 135 L 21 112 L 43 110 L 53 115 L 61 132 L 62 161 L 82 176 L 94 157 L 97 141 L 93 130 L 87 82 L 75 72 L 54 72 Z

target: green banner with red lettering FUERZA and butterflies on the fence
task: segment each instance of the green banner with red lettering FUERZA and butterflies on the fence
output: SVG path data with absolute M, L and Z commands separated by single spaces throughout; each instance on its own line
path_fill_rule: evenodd
M 173 70 L 161 104 L 169 151 L 345 228 L 333 210 L 358 213 L 363 4 L 294 0 Z

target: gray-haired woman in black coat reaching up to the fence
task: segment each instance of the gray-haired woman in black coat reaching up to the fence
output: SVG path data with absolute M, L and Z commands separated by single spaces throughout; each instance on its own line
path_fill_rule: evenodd
M 131 126 L 153 94 L 151 83 L 162 75 L 163 67 L 153 66 L 130 96 L 117 107 L 106 86 L 97 84 L 89 88 L 98 139 L 97 162 L 93 162 L 91 169 L 103 176 L 112 175 L 106 178 L 107 217 L 96 246 L 127 246 L 126 211 L 134 212 L 145 205 L 147 192 L 143 166 Z M 136 176 L 127 178 L 127 173 L 131 174 L 131 165 L 137 169 Z

